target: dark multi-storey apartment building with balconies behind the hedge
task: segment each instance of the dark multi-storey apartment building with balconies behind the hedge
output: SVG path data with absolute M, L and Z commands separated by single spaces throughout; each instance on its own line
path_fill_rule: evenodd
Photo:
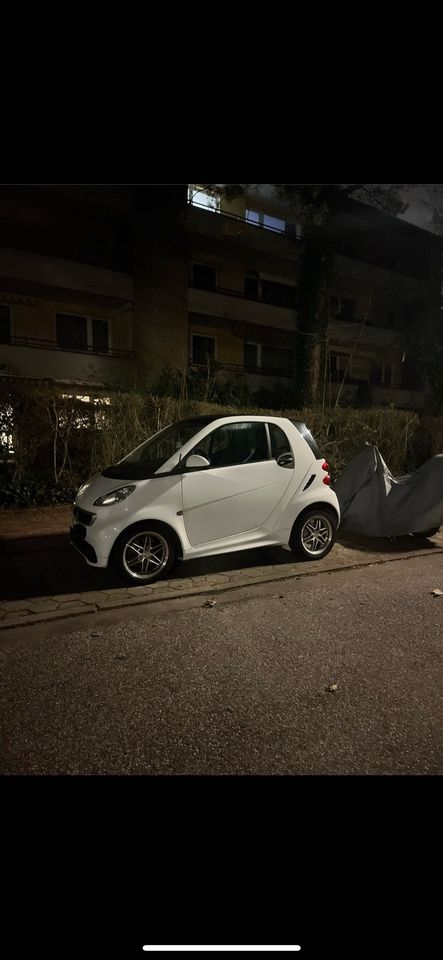
M 420 409 L 411 344 L 441 322 L 442 241 L 350 200 L 313 235 L 332 252 L 314 395 Z M 266 185 L 1 187 L 0 375 L 145 389 L 209 366 L 284 403 L 305 249 Z

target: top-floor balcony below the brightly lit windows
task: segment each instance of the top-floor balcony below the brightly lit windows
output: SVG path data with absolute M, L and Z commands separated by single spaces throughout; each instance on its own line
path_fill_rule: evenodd
M 298 260 L 303 241 L 286 232 L 250 223 L 244 217 L 210 211 L 188 203 L 187 223 L 191 233 L 211 237 L 238 247 L 248 247 L 285 260 Z

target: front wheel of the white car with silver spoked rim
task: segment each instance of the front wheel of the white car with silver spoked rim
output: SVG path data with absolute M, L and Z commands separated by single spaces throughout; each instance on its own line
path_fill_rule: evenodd
M 112 553 L 114 569 L 126 581 L 139 586 L 166 577 L 176 560 L 177 546 L 172 531 L 154 520 L 125 530 Z

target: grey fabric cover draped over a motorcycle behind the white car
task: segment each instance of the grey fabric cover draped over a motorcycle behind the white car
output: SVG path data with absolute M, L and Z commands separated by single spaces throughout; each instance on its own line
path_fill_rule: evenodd
M 396 479 L 377 447 L 367 445 L 348 463 L 333 489 L 342 525 L 353 533 L 396 537 L 443 525 L 443 454 Z

